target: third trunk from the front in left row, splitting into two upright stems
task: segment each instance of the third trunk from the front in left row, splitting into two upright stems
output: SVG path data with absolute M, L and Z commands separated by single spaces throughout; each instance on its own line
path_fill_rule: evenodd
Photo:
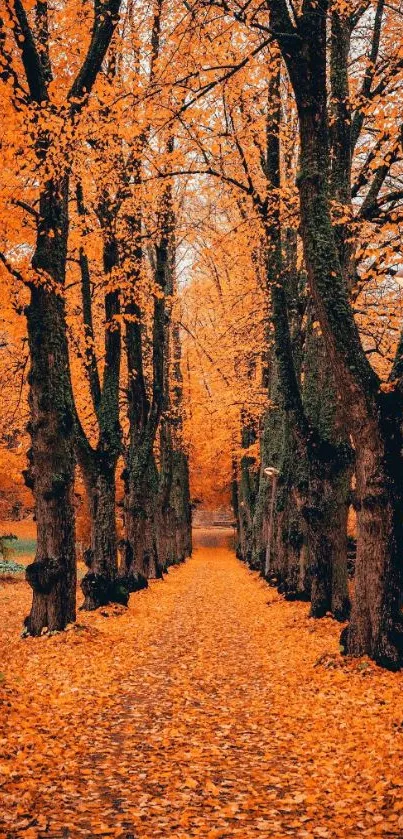
M 168 151 L 172 150 L 170 143 Z M 136 161 L 135 180 L 141 183 L 141 160 Z M 158 472 L 154 459 L 154 445 L 166 402 L 166 322 L 169 318 L 167 298 L 172 293 L 172 263 L 170 245 L 173 213 L 171 187 L 168 185 L 159 209 L 161 236 L 155 246 L 154 317 L 152 327 L 152 383 L 151 398 L 146 387 L 143 364 L 143 331 L 141 311 L 135 299 L 136 284 L 143 258 L 141 247 L 141 207 L 137 207 L 128 224 L 133 231 L 132 273 L 133 299 L 125 307 L 129 315 L 126 323 L 126 351 L 128 368 L 129 441 L 125 464 L 125 523 L 126 557 L 122 566 L 129 585 L 141 578 L 161 577 L 162 564 L 158 557 Z M 135 590 L 135 589 L 131 589 Z

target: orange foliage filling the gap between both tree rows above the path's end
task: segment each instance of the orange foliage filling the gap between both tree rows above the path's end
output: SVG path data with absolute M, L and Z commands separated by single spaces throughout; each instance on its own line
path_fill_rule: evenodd
M 242 411 L 259 419 L 267 401 L 266 304 L 253 262 L 255 234 L 234 196 L 212 189 L 205 185 L 205 222 L 193 237 L 189 280 L 181 291 L 184 434 L 192 494 L 205 507 L 229 503 Z

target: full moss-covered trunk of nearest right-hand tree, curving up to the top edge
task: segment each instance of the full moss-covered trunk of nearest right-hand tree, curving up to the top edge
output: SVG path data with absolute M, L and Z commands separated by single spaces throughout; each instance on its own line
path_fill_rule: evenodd
M 294 87 L 301 141 L 301 233 L 309 285 L 326 353 L 356 452 L 358 540 L 355 595 L 346 652 L 401 666 L 403 488 L 401 378 L 382 393 L 360 342 L 329 204 L 327 5 L 307 8 L 295 48 L 282 44 Z M 278 7 L 271 4 L 274 25 Z M 280 38 L 281 42 L 281 38 Z

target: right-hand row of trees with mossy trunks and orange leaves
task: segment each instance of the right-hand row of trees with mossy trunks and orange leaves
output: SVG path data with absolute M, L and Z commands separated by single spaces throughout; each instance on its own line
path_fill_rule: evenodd
M 246 387 L 233 448 L 238 552 L 288 596 L 309 599 L 312 616 L 349 617 L 345 652 L 397 668 L 403 651 L 400 11 L 383 2 L 347 7 L 321 0 L 196 6 L 212 40 L 231 33 L 228 64 L 238 69 L 215 96 L 214 124 L 202 140 L 196 121 L 188 120 L 200 151 L 194 171 L 229 190 L 237 259 L 246 252 L 255 270 L 255 301 L 265 291 L 259 361 L 252 306 L 249 349 L 242 364 L 230 353 L 229 373 L 221 355 L 211 353 L 206 323 L 197 336 L 213 357 L 215 379 L 221 368 L 233 394 L 235 382 Z M 245 38 L 249 52 L 240 69 Z M 237 214 L 247 217 L 246 232 Z M 225 224 L 221 219 L 222 231 Z M 216 268 L 217 259 L 223 274 L 225 256 L 215 257 Z M 248 280 L 244 288 L 247 294 Z M 235 333 L 242 346 L 233 322 Z M 263 417 L 254 407 L 256 377 L 269 389 Z

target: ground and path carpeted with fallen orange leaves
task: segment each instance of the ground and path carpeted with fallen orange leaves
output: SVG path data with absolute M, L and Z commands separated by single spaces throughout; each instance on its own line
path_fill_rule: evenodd
M 0 584 L 0 839 L 403 837 L 403 675 L 197 538 L 51 637 Z

